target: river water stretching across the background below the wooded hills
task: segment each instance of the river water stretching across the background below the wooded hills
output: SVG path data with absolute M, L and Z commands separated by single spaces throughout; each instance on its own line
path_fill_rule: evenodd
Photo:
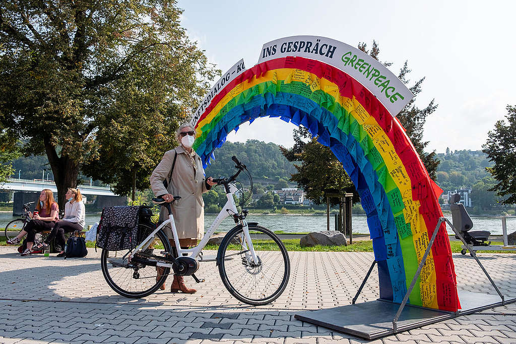
M 204 216 L 204 228 L 208 229 L 215 220 L 216 215 L 207 214 Z M 0 228 L 17 217 L 10 212 L 0 213 Z M 451 216 L 447 216 L 451 221 Z M 490 231 L 491 234 L 502 234 L 502 219 L 499 217 L 478 216 L 472 217 L 474 231 Z M 93 224 L 100 220 L 100 214 L 86 214 L 86 225 Z M 249 215 L 246 219 L 249 222 L 259 222 L 260 225 L 269 228 L 271 231 L 283 231 L 287 233 L 320 232 L 326 231 L 325 215 Z M 228 231 L 234 226 L 234 222 L 227 218 L 222 221 L 219 231 Z M 334 228 L 334 217 L 330 217 L 330 229 Z M 353 215 L 353 233 L 368 234 L 365 215 Z M 516 218 L 507 218 L 507 233 L 516 231 Z M 448 233 L 453 234 L 450 228 Z

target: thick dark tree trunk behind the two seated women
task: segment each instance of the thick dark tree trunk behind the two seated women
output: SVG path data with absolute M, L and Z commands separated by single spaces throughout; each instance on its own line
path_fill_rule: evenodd
M 61 157 L 59 157 L 50 138 L 45 138 L 43 143 L 45 145 L 46 156 L 49 158 L 50 167 L 54 173 L 54 182 L 57 187 L 57 204 L 59 205 L 59 209 L 65 209 L 65 194 L 68 188 L 77 187 L 79 166 L 68 155 L 61 155 Z

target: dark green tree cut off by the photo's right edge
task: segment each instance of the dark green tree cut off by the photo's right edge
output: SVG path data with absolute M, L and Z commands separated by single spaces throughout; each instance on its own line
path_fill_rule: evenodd
M 502 200 L 500 203 L 516 203 L 516 106 L 507 105 L 505 120 L 497 121 L 494 130 L 488 133 L 488 139 L 482 145 L 494 166 L 488 171 L 496 179 L 496 184 L 489 190 L 495 191 Z

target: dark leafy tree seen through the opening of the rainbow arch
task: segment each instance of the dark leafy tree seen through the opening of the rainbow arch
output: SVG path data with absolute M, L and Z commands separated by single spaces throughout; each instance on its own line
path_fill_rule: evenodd
M 294 129 L 293 148 L 280 147 L 288 161 L 301 162 L 300 165 L 294 165 L 297 173 L 292 174 L 291 181 L 296 182 L 315 204 L 326 203 L 326 189 L 354 192 L 358 196 L 342 163 L 328 147 L 317 142 L 316 137 L 308 143 L 304 142 L 310 137 L 308 129 L 301 126 Z M 330 199 L 330 202 L 333 205 L 338 203 L 336 199 Z

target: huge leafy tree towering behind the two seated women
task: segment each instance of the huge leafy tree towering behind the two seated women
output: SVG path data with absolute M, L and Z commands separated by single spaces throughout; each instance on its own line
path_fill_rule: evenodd
M 171 128 L 204 95 L 218 71 L 188 40 L 181 13 L 173 0 L 0 5 L 2 123 L 11 136 L 26 140 L 25 155 L 46 154 L 60 206 L 85 161 L 102 165 L 88 171 L 116 179 L 119 192 L 127 192 L 128 181 L 134 187 L 134 171 L 137 187 L 146 185 L 146 169 L 157 163 L 154 151 L 135 144 L 136 153 L 122 156 L 120 145 L 111 147 L 106 136 L 120 119 L 130 125 L 122 132 L 135 132 L 137 126 L 124 120 L 133 117 L 152 128 L 132 139 L 167 149 Z

